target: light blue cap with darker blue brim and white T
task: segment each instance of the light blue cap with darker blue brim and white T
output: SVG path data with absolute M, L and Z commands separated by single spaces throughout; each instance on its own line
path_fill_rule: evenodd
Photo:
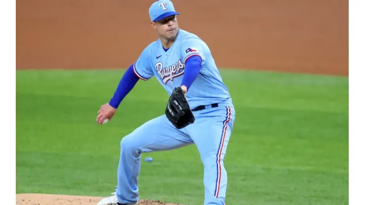
M 149 18 L 151 21 L 159 21 L 168 16 L 179 15 L 170 0 L 158 0 L 149 7 Z

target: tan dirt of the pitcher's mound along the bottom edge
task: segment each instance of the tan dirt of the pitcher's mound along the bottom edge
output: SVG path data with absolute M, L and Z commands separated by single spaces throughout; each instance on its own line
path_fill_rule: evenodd
M 102 197 L 52 194 L 17 194 L 16 205 L 96 205 Z M 140 200 L 138 205 L 179 205 L 159 201 Z

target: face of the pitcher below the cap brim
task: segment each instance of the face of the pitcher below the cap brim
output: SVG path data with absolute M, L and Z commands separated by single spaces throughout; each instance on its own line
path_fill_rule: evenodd
M 152 27 L 157 30 L 159 35 L 166 38 L 175 38 L 179 30 L 178 20 L 176 15 L 166 17 L 160 21 L 152 22 Z

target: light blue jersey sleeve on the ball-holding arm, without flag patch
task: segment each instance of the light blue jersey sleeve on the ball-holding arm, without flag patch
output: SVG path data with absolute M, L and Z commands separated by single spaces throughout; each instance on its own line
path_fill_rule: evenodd
M 153 70 L 150 66 L 151 65 L 150 58 L 149 58 L 150 46 L 151 46 L 151 44 L 148 45 L 142 51 L 140 57 L 133 64 L 134 73 L 142 80 L 148 80 L 149 78 L 151 78 L 154 75 Z

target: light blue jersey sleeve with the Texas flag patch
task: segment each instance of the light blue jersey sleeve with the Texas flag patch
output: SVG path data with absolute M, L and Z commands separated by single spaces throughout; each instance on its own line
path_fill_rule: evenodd
M 181 56 L 183 59 L 184 64 L 186 63 L 187 59 L 193 56 L 199 56 L 202 59 L 202 64 L 205 61 L 205 52 L 204 46 L 200 39 L 191 38 L 185 40 L 181 45 Z

